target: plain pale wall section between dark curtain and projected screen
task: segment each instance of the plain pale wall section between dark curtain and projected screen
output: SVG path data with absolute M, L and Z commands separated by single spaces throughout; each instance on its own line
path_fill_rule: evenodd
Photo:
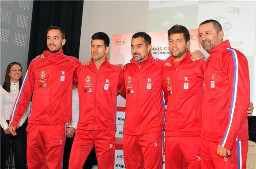
M 148 1 L 84 1 L 79 60 L 91 58 L 91 36 L 147 31 Z M 111 53 L 111 46 L 109 54 Z

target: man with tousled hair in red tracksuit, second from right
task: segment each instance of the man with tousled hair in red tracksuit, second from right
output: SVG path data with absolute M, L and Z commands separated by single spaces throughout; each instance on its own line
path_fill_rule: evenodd
M 190 35 L 182 25 L 168 30 L 167 58 L 171 67 L 162 70 L 162 83 L 168 95 L 166 110 L 166 169 L 200 169 L 201 104 L 206 61 L 192 61 Z

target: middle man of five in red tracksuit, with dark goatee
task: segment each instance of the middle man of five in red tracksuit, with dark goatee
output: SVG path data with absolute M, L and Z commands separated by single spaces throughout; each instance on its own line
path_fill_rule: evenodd
M 165 61 L 152 57 L 151 37 L 145 32 L 134 34 L 131 46 L 133 58 L 124 66 L 124 163 L 127 169 L 162 169 Z

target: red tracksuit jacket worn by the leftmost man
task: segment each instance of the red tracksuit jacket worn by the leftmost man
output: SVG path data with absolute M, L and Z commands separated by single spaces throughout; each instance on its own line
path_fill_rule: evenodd
M 33 92 L 28 123 L 57 124 L 72 119 L 72 79 L 81 62 L 65 56 L 63 50 L 44 51 L 44 59 L 34 59 L 26 72 L 14 104 L 10 125 L 17 126 Z

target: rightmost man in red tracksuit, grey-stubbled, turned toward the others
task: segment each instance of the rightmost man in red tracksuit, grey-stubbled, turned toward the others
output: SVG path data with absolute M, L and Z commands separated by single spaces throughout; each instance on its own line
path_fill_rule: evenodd
M 248 62 L 223 42 L 215 20 L 202 22 L 199 40 L 210 57 L 205 70 L 202 104 L 201 166 L 203 169 L 245 169 L 248 151 L 246 111 L 250 98 Z

